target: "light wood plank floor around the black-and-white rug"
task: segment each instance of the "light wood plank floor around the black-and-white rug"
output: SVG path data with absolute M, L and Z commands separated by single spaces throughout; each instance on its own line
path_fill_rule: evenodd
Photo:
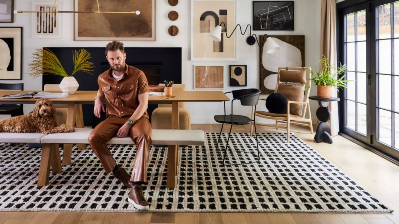
M 219 124 L 197 124 L 192 129 L 219 132 Z M 223 128 L 228 132 L 229 127 Z M 258 132 L 274 132 L 259 127 Z M 391 214 L 343 213 L 148 213 L 148 212 L 0 212 L 0 224 L 399 224 L 399 167 L 341 136 L 332 145 L 315 143 L 302 127 L 292 131 L 330 162 L 357 181 L 393 210 Z M 249 126 L 233 126 L 233 132 L 249 132 Z M 283 132 L 283 131 L 281 131 Z

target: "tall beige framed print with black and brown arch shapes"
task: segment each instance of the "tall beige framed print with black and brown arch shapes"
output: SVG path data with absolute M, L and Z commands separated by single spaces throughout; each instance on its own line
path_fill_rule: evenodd
M 235 61 L 236 36 L 226 37 L 222 26 L 221 41 L 208 34 L 219 24 L 226 24 L 228 34 L 235 28 L 235 0 L 191 0 L 191 60 Z

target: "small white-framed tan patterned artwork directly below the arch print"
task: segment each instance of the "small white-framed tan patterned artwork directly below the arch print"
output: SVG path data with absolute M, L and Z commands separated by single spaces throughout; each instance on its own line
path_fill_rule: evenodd
M 194 66 L 194 89 L 223 88 L 223 66 Z

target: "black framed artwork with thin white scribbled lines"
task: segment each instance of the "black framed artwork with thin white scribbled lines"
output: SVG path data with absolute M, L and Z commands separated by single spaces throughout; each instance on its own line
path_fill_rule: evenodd
M 294 1 L 253 1 L 253 30 L 294 30 Z

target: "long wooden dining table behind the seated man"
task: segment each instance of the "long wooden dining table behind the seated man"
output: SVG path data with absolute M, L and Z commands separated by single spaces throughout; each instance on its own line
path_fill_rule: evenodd
M 21 94 L 26 92 L 41 92 L 41 90 L 0 90 L 0 96 L 8 94 Z M 46 91 L 59 92 L 59 91 Z M 69 95 L 67 98 L 49 98 L 53 104 L 67 104 L 67 121 L 66 124 L 76 128 L 84 128 L 82 104 L 94 104 L 97 91 L 76 91 L 75 94 Z M 149 96 L 148 104 L 172 104 L 172 127 L 171 129 L 179 129 L 179 102 L 222 102 L 230 100 L 222 91 L 173 91 L 171 98 L 167 96 Z M 1 103 L 7 104 L 34 104 L 39 98 L 21 98 L 21 99 L 1 99 Z M 85 144 L 79 144 L 79 149 L 85 149 Z M 177 146 L 178 148 L 178 146 Z M 63 165 L 71 163 L 71 144 L 63 146 Z

